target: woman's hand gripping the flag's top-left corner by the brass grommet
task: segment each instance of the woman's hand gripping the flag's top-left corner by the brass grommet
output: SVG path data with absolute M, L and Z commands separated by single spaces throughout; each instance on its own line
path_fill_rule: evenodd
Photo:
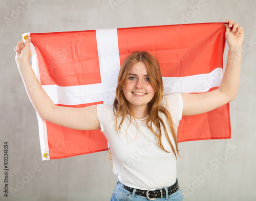
M 20 61 L 27 61 L 29 62 L 29 59 L 31 57 L 31 50 L 29 47 L 31 41 L 31 37 L 28 37 L 26 40 L 26 43 L 24 43 L 23 40 L 20 40 L 17 44 L 17 46 L 14 48 L 16 51 L 16 63 L 19 63 Z

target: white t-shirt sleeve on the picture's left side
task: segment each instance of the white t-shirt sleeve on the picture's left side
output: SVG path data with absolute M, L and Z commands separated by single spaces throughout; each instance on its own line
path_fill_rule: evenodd
M 100 131 L 103 132 L 108 127 L 110 119 L 113 116 L 113 106 L 107 104 L 97 105 L 97 116 L 100 124 Z

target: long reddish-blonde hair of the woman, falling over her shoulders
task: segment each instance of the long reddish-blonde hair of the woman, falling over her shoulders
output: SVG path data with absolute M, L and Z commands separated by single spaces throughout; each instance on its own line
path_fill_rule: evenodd
M 147 106 L 148 117 L 146 119 L 146 125 L 148 128 L 150 128 L 150 130 L 158 138 L 159 147 L 166 152 L 170 152 L 170 151 L 165 150 L 165 148 L 163 147 L 163 144 L 162 144 L 161 125 L 163 126 L 166 139 L 167 139 L 170 147 L 172 148 L 172 151 L 174 152 L 175 157 L 177 158 L 176 152 L 178 153 L 178 155 L 180 155 L 180 154 L 179 154 L 179 150 L 178 150 L 178 142 L 177 142 L 177 137 L 176 137 L 176 133 L 175 133 L 175 129 L 174 129 L 173 119 L 170 116 L 169 111 L 163 105 L 160 104 L 160 102 L 162 100 L 162 96 L 163 96 L 163 80 L 162 80 L 159 62 L 156 59 L 156 57 L 154 57 L 152 54 L 150 54 L 148 52 L 132 53 L 124 60 L 122 66 L 121 66 L 119 76 L 118 76 L 118 84 L 116 87 L 116 97 L 115 97 L 114 104 L 113 104 L 114 108 L 116 110 L 116 112 L 115 111 L 114 112 L 116 115 L 117 132 L 121 131 L 120 129 L 121 129 L 122 123 L 123 123 L 126 115 L 130 115 L 130 120 L 132 120 L 132 116 L 134 114 L 133 109 L 129 106 L 129 102 L 124 97 L 123 88 L 126 85 L 132 65 L 137 62 L 145 63 L 145 65 L 147 67 L 148 77 L 150 78 L 151 84 L 156 92 L 155 96 L 148 103 L 148 106 Z M 176 150 L 175 150 L 172 142 L 169 139 L 166 126 L 164 125 L 162 118 L 159 116 L 159 112 L 166 115 L 166 117 L 167 117 L 168 126 L 172 133 L 172 136 L 173 136 L 173 139 L 174 139 L 174 142 L 176 145 Z M 118 117 L 121 117 L 121 121 L 120 121 L 119 125 L 117 125 Z M 153 129 L 153 124 L 157 127 L 157 132 Z M 111 152 L 110 152 L 108 159 L 111 159 Z

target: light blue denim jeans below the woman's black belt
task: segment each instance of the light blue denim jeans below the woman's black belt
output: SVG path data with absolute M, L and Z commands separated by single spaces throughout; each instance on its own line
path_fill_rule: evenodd
M 115 190 L 111 196 L 110 201 L 120 201 L 120 200 L 126 200 L 126 201 L 148 201 L 146 197 L 136 195 L 136 188 L 133 190 L 133 193 L 130 191 L 125 190 L 123 187 L 120 186 L 120 183 L 118 182 L 116 184 Z M 177 192 L 168 195 L 168 197 L 162 197 L 154 199 L 154 201 L 183 201 L 183 195 L 181 193 L 181 190 L 179 189 Z

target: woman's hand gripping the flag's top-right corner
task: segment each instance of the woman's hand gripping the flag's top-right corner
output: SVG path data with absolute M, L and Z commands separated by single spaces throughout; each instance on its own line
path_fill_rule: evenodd
M 225 21 L 226 33 L 225 37 L 229 47 L 242 47 L 244 41 L 243 27 L 239 27 L 238 23 L 234 23 L 234 20 Z M 231 30 L 232 28 L 232 30 Z

